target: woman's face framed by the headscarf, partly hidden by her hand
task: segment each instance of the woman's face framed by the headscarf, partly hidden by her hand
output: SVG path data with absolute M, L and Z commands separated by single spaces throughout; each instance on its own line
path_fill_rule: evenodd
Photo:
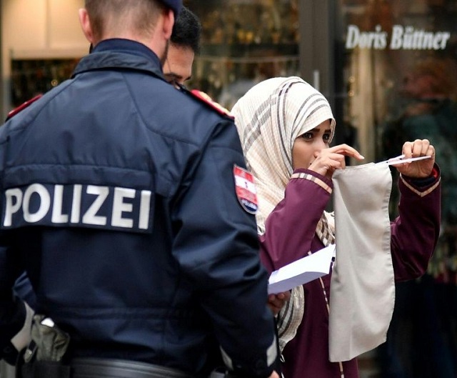
M 322 149 L 328 149 L 330 138 L 330 119 L 298 136 L 293 142 L 293 169 L 308 168 Z

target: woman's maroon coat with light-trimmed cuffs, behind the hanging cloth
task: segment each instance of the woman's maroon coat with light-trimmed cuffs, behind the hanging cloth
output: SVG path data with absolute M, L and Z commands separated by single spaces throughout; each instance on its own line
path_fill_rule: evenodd
M 323 180 L 331 180 L 307 169 L 297 169 Z M 391 222 L 391 253 L 396 281 L 415 279 L 426 272 L 440 229 L 441 181 L 401 178 L 399 217 Z M 291 179 L 284 199 L 266 220 L 266 232 L 260 238 L 261 259 L 269 272 L 279 269 L 323 244 L 316 236 L 316 224 L 331 194 L 308 179 Z M 330 294 L 331 274 L 322 277 Z M 284 351 L 285 378 L 339 378 L 340 366 L 328 361 L 328 311 L 320 280 L 303 285 L 305 309 L 296 337 Z M 344 327 L 344 324 L 342 324 Z M 357 359 L 343 362 L 345 378 L 358 377 Z

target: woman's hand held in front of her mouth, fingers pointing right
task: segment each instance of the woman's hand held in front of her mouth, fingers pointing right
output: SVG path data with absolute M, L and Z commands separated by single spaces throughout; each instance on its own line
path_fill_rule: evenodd
M 346 163 L 344 161 L 345 156 L 351 156 L 358 160 L 365 159 L 351 146 L 348 146 L 347 144 L 338 144 L 338 146 L 321 149 L 321 151 L 316 152 L 316 159 L 310 164 L 309 169 L 331 179 L 333 172 L 336 169 L 346 168 Z

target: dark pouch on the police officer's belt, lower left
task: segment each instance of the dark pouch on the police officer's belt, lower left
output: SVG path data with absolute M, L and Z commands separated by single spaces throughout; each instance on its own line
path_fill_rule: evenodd
M 19 356 L 16 378 L 70 378 L 70 366 L 64 364 L 69 335 L 51 319 L 37 314 L 31 339 L 29 347 Z

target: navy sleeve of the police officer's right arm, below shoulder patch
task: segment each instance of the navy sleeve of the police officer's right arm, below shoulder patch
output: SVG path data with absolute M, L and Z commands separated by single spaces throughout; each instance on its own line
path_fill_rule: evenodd
M 268 377 L 278 355 L 266 306 L 268 277 L 255 218 L 236 197 L 233 164 L 245 166 L 241 144 L 234 124 L 221 121 L 176 205 L 181 227 L 174 256 L 200 293 L 229 370 L 236 377 Z

